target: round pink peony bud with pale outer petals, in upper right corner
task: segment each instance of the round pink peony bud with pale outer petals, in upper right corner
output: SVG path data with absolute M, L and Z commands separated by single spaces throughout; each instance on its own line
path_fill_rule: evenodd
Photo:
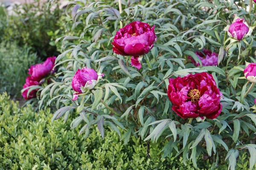
M 224 31 L 227 31 L 230 37 L 242 40 L 244 37 L 252 34 L 253 28 L 250 28 L 244 19 L 236 17 L 230 26 L 224 28 Z

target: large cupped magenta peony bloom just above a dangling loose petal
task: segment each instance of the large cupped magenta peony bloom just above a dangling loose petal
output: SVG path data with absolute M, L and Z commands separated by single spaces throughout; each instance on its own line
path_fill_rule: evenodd
M 123 56 L 140 56 L 147 54 L 156 40 L 154 26 L 151 28 L 147 23 L 134 21 L 116 32 L 113 51 Z

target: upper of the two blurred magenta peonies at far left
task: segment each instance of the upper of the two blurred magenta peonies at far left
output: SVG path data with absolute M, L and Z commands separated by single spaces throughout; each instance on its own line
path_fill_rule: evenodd
M 32 65 L 29 68 L 29 74 L 32 79 L 39 82 L 49 74 L 52 74 L 55 71 L 52 70 L 55 66 L 55 59 L 56 57 L 48 57 L 44 63 Z

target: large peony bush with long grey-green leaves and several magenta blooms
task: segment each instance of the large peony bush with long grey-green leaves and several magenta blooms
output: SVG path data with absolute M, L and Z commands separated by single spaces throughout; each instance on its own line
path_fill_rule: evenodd
M 70 114 L 84 138 L 93 125 L 127 144 L 131 136 L 167 139 L 162 158 L 204 157 L 235 170 L 256 164 L 256 26 L 252 0 L 72 1 L 67 32 L 56 43 L 54 81 L 37 88 L 39 109 Z M 247 10 L 248 9 L 248 10 Z M 244 72 L 244 74 L 243 74 Z M 121 135 L 120 129 L 125 130 Z M 149 152 L 148 152 L 148 156 Z M 240 165 L 240 163 L 239 163 Z

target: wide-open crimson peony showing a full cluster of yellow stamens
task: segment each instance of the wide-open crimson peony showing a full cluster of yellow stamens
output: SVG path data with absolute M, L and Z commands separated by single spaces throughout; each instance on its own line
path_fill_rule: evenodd
M 215 119 L 221 113 L 221 93 L 212 74 L 206 72 L 169 79 L 168 97 L 183 119 Z

